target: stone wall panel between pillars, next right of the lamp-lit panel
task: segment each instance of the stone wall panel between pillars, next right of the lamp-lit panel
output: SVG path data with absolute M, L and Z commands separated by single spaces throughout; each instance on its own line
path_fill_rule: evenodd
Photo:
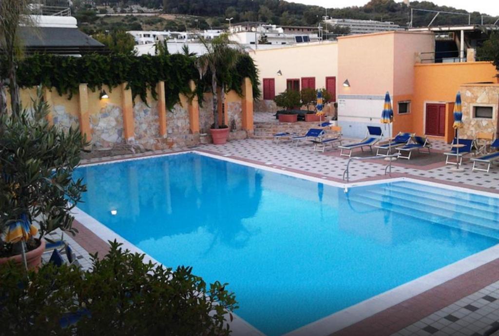
M 135 122 L 135 141 L 146 149 L 153 149 L 155 139 L 159 138 L 158 102 L 153 100 L 149 106 L 138 99 L 133 107 Z

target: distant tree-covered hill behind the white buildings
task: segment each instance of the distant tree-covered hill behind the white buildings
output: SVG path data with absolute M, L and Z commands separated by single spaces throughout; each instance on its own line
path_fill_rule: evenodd
M 47 0 L 48 1 L 48 0 Z M 450 0 L 449 2 L 452 3 Z M 73 3 L 77 3 L 76 0 Z M 227 26 L 227 17 L 234 17 L 232 23 L 241 21 L 263 21 L 281 25 L 316 25 L 326 15 L 326 8 L 287 2 L 283 0 L 95 0 L 100 13 L 107 12 L 106 8 L 113 8 L 111 12 L 128 12 L 130 5 L 140 5 L 147 8 L 156 8 L 170 17 L 142 18 L 130 15 L 129 17 L 96 17 L 96 11 L 81 6 L 75 8 L 75 16 L 82 29 L 86 31 L 102 31 L 110 29 L 140 30 L 186 30 L 189 28 L 206 29 L 211 27 Z M 125 7 L 123 3 L 126 4 Z M 410 21 L 410 8 L 433 9 L 443 11 L 457 11 L 468 13 L 466 10 L 450 6 L 438 6 L 430 1 L 411 1 L 410 7 L 403 2 L 394 0 L 371 0 L 364 6 L 346 8 L 327 8 L 327 15 L 335 18 L 371 19 L 393 21 L 406 26 Z M 472 23 L 480 23 L 479 12 L 473 12 Z M 414 15 L 414 26 L 428 25 L 435 13 L 417 11 Z M 484 23 L 493 23 L 495 18 L 485 17 Z M 433 25 L 452 25 L 468 23 L 465 15 L 441 14 Z

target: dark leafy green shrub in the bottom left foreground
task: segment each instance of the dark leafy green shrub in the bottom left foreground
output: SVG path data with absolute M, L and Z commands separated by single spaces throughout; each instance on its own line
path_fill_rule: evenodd
M 38 273 L 18 265 L 0 268 L 0 336 L 228 336 L 227 322 L 238 308 L 226 284 L 207 287 L 190 267 L 175 271 L 110 242 L 92 268 L 43 265 Z M 61 327 L 66 313 L 84 312 Z M 229 321 L 226 321 L 229 320 Z

